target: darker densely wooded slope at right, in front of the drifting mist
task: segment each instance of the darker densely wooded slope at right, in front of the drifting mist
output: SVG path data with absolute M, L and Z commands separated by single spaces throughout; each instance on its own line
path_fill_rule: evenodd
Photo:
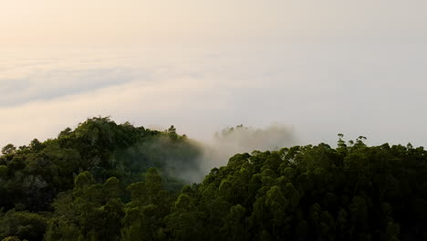
M 340 140 L 337 149 L 321 143 L 234 155 L 227 166 L 214 168 L 195 193 L 182 190 L 191 196 L 181 195 L 177 202 L 187 208 L 175 208 L 169 216 L 175 220 L 169 225 L 172 236 L 426 239 L 427 152 L 411 145 L 368 147 L 363 139 L 349 146 Z

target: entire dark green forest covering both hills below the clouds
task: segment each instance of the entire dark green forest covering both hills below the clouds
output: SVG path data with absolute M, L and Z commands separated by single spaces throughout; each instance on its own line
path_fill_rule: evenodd
M 0 156 L 0 240 L 427 240 L 427 152 L 407 145 L 236 153 L 96 117 Z

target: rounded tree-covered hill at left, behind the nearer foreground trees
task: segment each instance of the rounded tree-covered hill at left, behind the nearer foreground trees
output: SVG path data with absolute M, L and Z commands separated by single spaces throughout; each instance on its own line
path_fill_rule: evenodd
M 19 150 L 8 144 L 2 152 L 0 196 L 8 198 L 0 199 L 0 207 L 8 210 L 20 204 L 30 211 L 48 211 L 53 198 L 72 189 L 74 176 L 84 171 L 99 183 L 115 176 L 125 187 L 141 182 L 143 173 L 157 167 L 167 188 L 179 190 L 180 172 L 198 172 L 196 160 L 202 150 L 173 126 L 168 131 L 151 131 L 93 118 L 74 131 L 61 131 L 57 139 L 35 139 Z

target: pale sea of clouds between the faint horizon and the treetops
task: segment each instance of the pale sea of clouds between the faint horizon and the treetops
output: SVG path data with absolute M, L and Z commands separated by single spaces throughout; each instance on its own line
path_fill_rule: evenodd
M 0 145 L 55 137 L 97 115 L 174 124 L 203 140 L 227 126 L 276 121 L 294 125 L 305 143 L 334 142 L 338 132 L 375 143 L 426 141 L 420 111 L 427 104 L 426 50 L 383 56 L 391 48 L 293 47 L 7 58 L 0 70 Z

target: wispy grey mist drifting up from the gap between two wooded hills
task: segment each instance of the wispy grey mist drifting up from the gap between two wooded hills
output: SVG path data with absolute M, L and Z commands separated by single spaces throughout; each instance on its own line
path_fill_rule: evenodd
M 272 123 L 262 128 L 237 125 L 213 133 L 211 141 L 189 141 L 201 150 L 201 154 L 196 157 L 197 160 L 190 162 L 196 165 L 188 165 L 177 159 L 169 162 L 171 165 L 167 166 L 168 174 L 186 183 L 200 183 L 213 168 L 226 165 L 228 160 L 237 153 L 278 151 L 298 143 L 294 129 L 279 123 Z

